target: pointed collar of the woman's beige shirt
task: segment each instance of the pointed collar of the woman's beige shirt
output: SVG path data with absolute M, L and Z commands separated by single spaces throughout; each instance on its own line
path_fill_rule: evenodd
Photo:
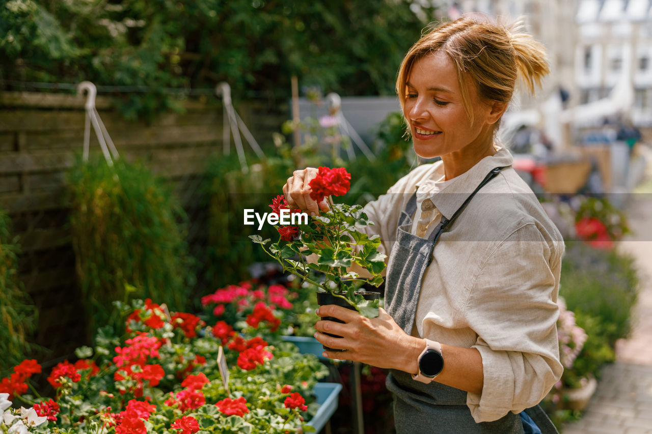
M 511 166 L 512 162 L 512 154 L 506 148 L 500 148 L 496 154 L 482 158 L 471 169 L 452 179 L 450 184 L 431 197 L 432 202 L 445 218 L 451 218 L 491 169 Z M 430 179 L 423 181 L 419 188 L 427 189 L 428 184 L 433 182 Z

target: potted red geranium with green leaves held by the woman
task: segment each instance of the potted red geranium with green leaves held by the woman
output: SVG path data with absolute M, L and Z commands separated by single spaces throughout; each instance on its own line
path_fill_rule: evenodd
M 318 304 L 339 304 L 355 309 L 366 317 L 378 316 L 379 293 L 358 291 L 369 283 L 378 287 L 383 283 L 381 272 L 386 255 L 378 251 L 378 236 L 368 237 L 361 231 L 373 222 L 360 205 L 334 203 L 333 196 L 346 194 L 351 188 L 351 174 L 344 167 L 319 167 L 318 175 L 310 181 L 310 197 L 317 202 L 327 200 L 329 210 L 308 219 L 307 224 L 276 225 L 279 239 L 263 240 L 259 235 L 250 238 L 273 257 L 283 269 L 304 282 L 317 285 Z M 301 212 L 289 209 L 283 195 L 274 197 L 269 205 L 276 214 Z M 285 210 L 285 211 L 284 211 Z M 315 255 L 316 261 L 308 261 Z M 353 264 L 368 271 L 369 276 L 349 270 Z M 321 272 L 323 279 L 314 277 Z

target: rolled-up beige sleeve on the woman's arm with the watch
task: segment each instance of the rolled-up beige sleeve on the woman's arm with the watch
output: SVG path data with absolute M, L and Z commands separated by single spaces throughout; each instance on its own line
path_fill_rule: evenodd
M 467 300 L 478 335 L 484 384 L 467 395 L 476 422 L 537 405 L 559 380 L 557 293 L 563 242 L 546 242 L 526 224 L 486 259 Z

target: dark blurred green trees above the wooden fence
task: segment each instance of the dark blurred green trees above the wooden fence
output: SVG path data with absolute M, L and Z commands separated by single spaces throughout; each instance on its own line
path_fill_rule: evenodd
M 129 117 L 175 108 L 162 88 L 289 96 L 289 78 L 344 95 L 393 94 L 404 53 L 439 0 L 10 0 L 0 6 L 0 87 L 91 80 L 147 86 Z

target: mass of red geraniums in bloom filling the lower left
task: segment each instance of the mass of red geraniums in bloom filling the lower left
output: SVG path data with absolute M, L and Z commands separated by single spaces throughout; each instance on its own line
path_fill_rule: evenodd
M 204 320 L 168 313 L 149 299 L 115 302 L 126 317 L 126 333 L 115 336 L 109 327 L 100 328 L 95 347 L 82 347 L 76 351 L 79 360 L 52 368 L 53 396 L 33 388 L 28 393 L 30 378 L 42 371 L 37 360 L 23 360 L 0 380 L 0 433 L 311 431 L 306 420 L 318 405 L 310 390 L 327 369 L 291 343 L 258 336 L 262 331 L 273 338 L 274 325 L 283 326 L 261 303 L 258 311 L 256 305 L 252 309 L 263 311 L 253 314 L 255 321 L 230 324 L 213 321 L 209 304 Z M 218 369 L 220 346 L 228 388 Z M 11 408 L 12 401 L 27 408 Z

